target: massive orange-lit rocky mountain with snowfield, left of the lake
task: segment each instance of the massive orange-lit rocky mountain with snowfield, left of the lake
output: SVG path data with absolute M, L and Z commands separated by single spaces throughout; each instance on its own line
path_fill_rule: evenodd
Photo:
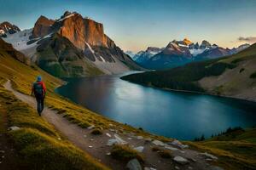
M 67 11 L 57 20 L 40 16 L 24 31 L 6 23 L 0 25 L 3 40 L 56 77 L 143 70 L 104 33 L 101 23 L 76 12 Z

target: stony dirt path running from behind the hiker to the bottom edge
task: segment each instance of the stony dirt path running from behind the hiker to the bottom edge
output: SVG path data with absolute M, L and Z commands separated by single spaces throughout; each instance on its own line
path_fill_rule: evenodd
M 20 94 L 11 87 L 10 81 L 4 84 L 4 87 L 12 91 L 15 96 L 31 105 L 36 109 L 36 101 L 31 96 Z M 180 143 L 178 140 L 172 143 L 165 144 L 159 140 L 143 139 L 134 133 L 124 132 L 119 133 L 117 129 L 110 128 L 103 130 L 101 135 L 91 134 L 94 126 L 86 129 L 78 127 L 67 121 L 61 115 L 56 114 L 49 108 L 44 108 L 43 117 L 55 128 L 67 137 L 74 145 L 81 150 L 86 151 L 98 161 L 111 167 L 112 169 L 125 169 L 127 162 L 117 161 L 110 155 L 110 150 L 113 144 L 129 144 L 135 150 L 142 152 L 145 157 L 143 165 L 137 165 L 137 161 L 131 161 L 130 165 L 137 165 L 132 169 L 154 170 L 154 169 L 222 169 L 211 165 L 213 161 L 218 161 L 218 158 L 207 153 L 199 153 L 195 150 L 189 150 L 189 146 Z M 111 127 L 111 125 L 110 125 Z M 61 140 L 61 139 L 60 139 Z M 160 150 L 169 150 L 172 152 L 172 158 L 163 158 L 158 151 L 153 151 L 152 148 Z M 140 166 L 142 166 L 140 168 Z M 132 167 L 132 166 L 131 166 Z

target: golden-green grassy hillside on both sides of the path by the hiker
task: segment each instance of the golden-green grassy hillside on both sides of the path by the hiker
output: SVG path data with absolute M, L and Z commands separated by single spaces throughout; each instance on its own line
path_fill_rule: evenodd
M 17 91 L 29 95 L 32 82 L 38 75 L 42 75 L 48 89 L 46 105 L 80 127 L 89 127 L 92 124 L 103 129 L 114 127 L 119 130 L 119 133 L 126 131 L 148 138 L 170 140 L 113 122 L 73 104 L 54 93 L 54 89 L 64 82 L 50 76 L 35 65 L 28 66 L 20 63 L 0 48 L 0 105 L 8 112 L 9 126 L 22 127 L 22 130 L 9 134 L 20 154 L 20 165 L 26 169 L 107 169 L 61 137 L 55 128 L 39 117 L 32 107 L 16 99 L 13 94 L 3 88 L 3 83 L 9 79 Z

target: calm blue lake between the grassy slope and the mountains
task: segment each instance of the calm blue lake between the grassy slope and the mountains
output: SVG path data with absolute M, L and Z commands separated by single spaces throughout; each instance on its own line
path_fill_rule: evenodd
M 256 125 L 256 104 L 143 87 L 120 76 L 68 79 L 56 92 L 117 122 L 176 139 Z

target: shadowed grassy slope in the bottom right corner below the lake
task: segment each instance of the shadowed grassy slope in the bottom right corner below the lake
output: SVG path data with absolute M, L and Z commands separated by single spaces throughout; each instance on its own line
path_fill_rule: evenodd
M 256 169 L 256 128 L 187 143 L 196 150 L 218 156 L 218 164 L 226 169 Z

